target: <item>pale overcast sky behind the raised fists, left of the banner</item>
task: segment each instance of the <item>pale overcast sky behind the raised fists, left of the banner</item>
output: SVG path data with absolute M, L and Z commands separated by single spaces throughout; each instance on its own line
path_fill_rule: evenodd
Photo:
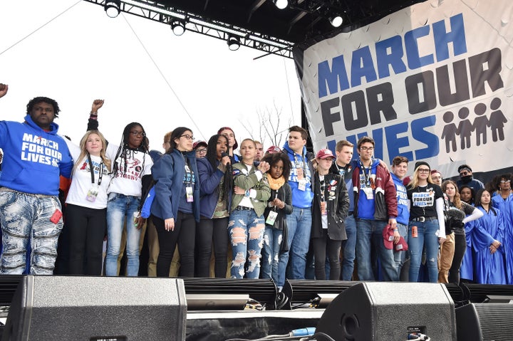
M 289 119 L 301 124 L 288 58 L 254 61 L 264 53 L 229 51 L 224 41 L 191 31 L 175 36 L 166 24 L 131 14 L 110 19 L 101 6 L 77 0 L 1 0 L 0 37 L 0 83 L 9 84 L 0 119 L 21 121 L 28 100 L 47 96 L 61 107 L 59 132 L 76 142 L 95 98 L 105 100 L 99 122 L 108 140 L 118 144 L 135 121 L 153 149 L 178 126 L 202 140 L 231 126 L 240 142 L 249 133 L 239 120 L 258 135 L 257 111 L 274 107 L 284 129 Z

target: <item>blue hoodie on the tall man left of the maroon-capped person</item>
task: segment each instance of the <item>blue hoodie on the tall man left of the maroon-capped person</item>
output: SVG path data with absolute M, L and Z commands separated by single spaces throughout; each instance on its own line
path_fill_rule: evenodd
M 303 147 L 303 153 L 301 155 L 296 154 L 297 157 L 303 160 L 304 174 L 306 178 L 306 189 L 301 191 L 299 189 L 299 182 L 296 174 L 296 166 L 294 165 L 295 157 L 294 152 L 289 147 L 289 142 L 285 142 L 284 152 L 291 160 L 291 174 L 289 176 L 289 185 L 292 189 L 292 206 L 298 207 L 299 209 L 308 209 L 312 205 L 314 200 L 314 193 L 311 190 L 311 176 L 314 174 L 314 169 L 311 165 L 311 158 L 308 157 L 306 147 Z

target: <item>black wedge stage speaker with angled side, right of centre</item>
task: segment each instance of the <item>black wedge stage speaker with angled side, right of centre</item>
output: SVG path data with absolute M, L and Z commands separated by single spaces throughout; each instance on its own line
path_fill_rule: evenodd
M 455 308 L 445 285 L 353 285 L 328 305 L 317 324 L 316 340 L 395 341 L 408 340 L 413 333 L 433 341 L 456 340 Z

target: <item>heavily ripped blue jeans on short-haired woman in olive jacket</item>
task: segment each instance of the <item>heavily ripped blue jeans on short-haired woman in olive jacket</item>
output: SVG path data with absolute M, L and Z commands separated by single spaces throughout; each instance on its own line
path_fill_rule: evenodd
M 229 217 L 228 235 L 232 243 L 232 278 L 259 278 L 261 248 L 264 243 L 264 216 L 254 209 L 237 206 Z M 245 268 L 247 261 L 247 268 Z

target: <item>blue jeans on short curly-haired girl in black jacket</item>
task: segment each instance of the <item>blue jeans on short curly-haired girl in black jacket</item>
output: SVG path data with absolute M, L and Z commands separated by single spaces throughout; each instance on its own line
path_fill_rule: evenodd
M 274 229 L 266 225 L 264 231 L 264 248 L 262 248 L 261 278 L 272 278 L 279 283 L 281 273 L 278 272 L 279 251 L 283 237 L 283 230 Z

